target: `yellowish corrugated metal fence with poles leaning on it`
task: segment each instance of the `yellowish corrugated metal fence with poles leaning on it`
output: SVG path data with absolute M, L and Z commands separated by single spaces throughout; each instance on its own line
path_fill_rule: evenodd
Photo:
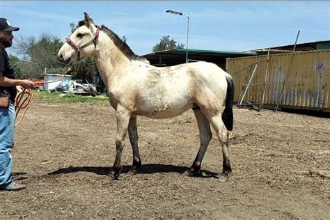
M 292 56 L 292 63 L 289 63 Z M 255 65 L 253 63 L 267 60 L 267 56 L 250 56 L 244 58 L 228 58 L 227 72 L 235 82 L 235 102 L 242 97 L 242 88 L 251 78 Z M 243 68 L 251 67 L 242 70 Z M 238 72 L 239 70 L 242 70 Z M 267 61 L 258 63 L 256 72 L 246 93 L 244 102 L 260 103 L 262 100 L 266 70 L 268 79 L 265 91 L 265 104 L 299 109 L 315 109 L 330 111 L 330 50 L 313 52 L 296 52 L 290 54 L 274 54 Z M 289 70 L 289 71 L 288 71 Z M 287 74 L 288 72 L 288 74 Z M 286 81 L 285 81 L 286 77 Z M 283 87 L 283 93 L 281 89 Z

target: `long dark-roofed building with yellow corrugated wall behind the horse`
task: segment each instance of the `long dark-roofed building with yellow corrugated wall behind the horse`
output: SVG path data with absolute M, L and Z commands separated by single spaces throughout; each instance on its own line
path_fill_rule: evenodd
M 242 100 L 251 79 L 252 86 L 242 100 L 246 103 L 330 112 L 330 40 L 299 43 L 294 53 L 293 49 L 294 45 L 246 52 L 189 49 L 188 60 L 215 63 L 232 74 L 236 103 Z M 144 57 L 152 65 L 171 66 L 185 63 L 186 52 L 171 49 Z M 252 76 L 256 63 L 258 68 Z

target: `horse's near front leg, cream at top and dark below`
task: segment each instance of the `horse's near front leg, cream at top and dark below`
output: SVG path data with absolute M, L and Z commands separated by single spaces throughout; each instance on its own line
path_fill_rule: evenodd
M 114 180 L 118 180 L 118 177 L 122 169 L 121 158 L 123 155 L 123 148 L 125 146 L 125 138 L 127 134 L 130 112 L 127 109 L 121 107 L 120 104 L 118 104 L 116 115 L 117 115 L 116 159 L 110 173 L 111 178 L 113 178 Z

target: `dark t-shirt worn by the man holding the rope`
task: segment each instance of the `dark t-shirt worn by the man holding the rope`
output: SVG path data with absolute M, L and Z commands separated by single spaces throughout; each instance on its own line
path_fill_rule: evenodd
M 12 65 L 10 65 L 9 57 L 6 50 L 0 47 L 0 72 L 3 72 L 3 76 L 9 79 L 15 79 L 15 72 Z M 6 89 L 10 94 L 10 100 L 15 102 L 16 86 L 13 87 L 1 87 L 0 90 Z

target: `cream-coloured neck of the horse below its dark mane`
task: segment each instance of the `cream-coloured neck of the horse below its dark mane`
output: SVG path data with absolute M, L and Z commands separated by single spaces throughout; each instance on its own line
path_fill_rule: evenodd
M 99 39 L 97 40 L 97 49 L 94 54 L 94 59 L 102 80 L 107 86 L 113 81 L 113 78 L 117 78 L 118 74 L 123 72 L 123 68 L 125 68 L 126 65 L 129 65 L 129 59 L 114 45 L 112 40 L 102 32 L 100 32 Z

